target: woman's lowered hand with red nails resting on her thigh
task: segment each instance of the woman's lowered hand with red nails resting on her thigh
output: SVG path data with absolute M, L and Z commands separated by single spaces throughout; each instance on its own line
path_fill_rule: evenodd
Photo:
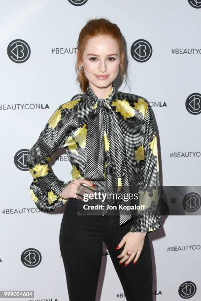
M 124 264 L 126 267 L 134 259 L 135 255 L 134 264 L 136 263 L 143 248 L 146 234 L 147 232 L 130 231 L 123 236 L 122 240 L 115 248 L 115 250 L 119 250 L 125 244 L 123 251 L 117 256 L 117 258 L 122 258 L 119 262 L 120 265 L 126 261 Z M 131 255 L 127 255 L 127 252 Z

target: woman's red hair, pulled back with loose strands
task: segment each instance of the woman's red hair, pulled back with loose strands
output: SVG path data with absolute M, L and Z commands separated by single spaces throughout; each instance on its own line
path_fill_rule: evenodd
M 124 43 L 122 38 L 122 33 L 119 27 L 111 23 L 109 20 L 100 18 L 100 19 L 90 19 L 87 21 L 86 25 L 80 31 L 78 40 L 77 40 L 77 60 L 75 64 L 75 71 L 77 74 L 76 81 L 78 81 L 80 89 L 82 92 L 87 91 L 87 87 L 89 85 L 89 81 L 85 76 L 84 69 L 81 67 L 81 61 L 83 52 L 85 50 L 85 46 L 90 38 L 106 35 L 114 38 L 119 46 L 120 52 L 120 66 L 119 66 L 119 73 L 121 78 L 123 79 L 125 74 L 125 52 L 124 52 Z

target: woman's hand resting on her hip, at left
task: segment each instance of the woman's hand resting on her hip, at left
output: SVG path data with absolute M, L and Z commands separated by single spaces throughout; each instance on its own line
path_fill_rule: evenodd
M 62 193 L 60 194 L 60 197 L 63 199 L 75 198 L 75 199 L 83 200 L 84 193 L 94 194 L 93 190 L 81 184 L 86 184 L 88 186 L 91 186 L 93 187 L 93 189 L 95 187 L 92 181 L 85 180 L 85 179 L 75 179 L 66 185 L 66 187 L 63 189 Z

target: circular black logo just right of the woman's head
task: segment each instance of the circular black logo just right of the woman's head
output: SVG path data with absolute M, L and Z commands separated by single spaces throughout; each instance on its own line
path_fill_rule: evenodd
M 151 44 L 143 39 L 136 40 L 131 46 L 131 55 L 134 60 L 139 62 L 149 60 L 152 56 Z

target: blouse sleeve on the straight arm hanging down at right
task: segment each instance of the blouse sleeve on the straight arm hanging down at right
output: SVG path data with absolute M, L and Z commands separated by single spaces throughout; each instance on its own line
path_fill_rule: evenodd
M 138 210 L 135 224 L 131 232 L 151 232 L 161 228 L 160 207 L 163 206 L 159 182 L 159 160 L 155 121 L 149 102 L 145 99 L 145 138 L 142 145 L 144 162 L 141 167 L 143 184 L 138 190 L 139 204 L 144 205 Z

